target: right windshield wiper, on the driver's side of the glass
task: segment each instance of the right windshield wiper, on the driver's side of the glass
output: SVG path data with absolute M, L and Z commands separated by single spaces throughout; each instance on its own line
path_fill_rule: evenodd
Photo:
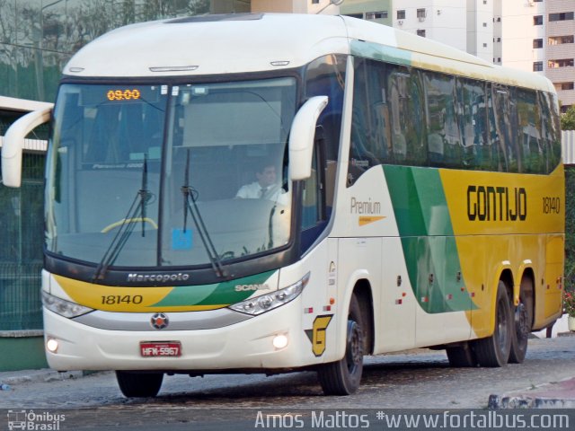
M 190 149 L 188 148 L 186 154 L 186 171 L 184 172 L 184 181 L 181 186 L 181 194 L 183 195 L 183 233 L 186 233 L 187 222 L 188 222 L 188 212 L 190 212 L 191 219 L 193 220 L 196 229 L 199 233 L 199 238 L 204 244 L 206 253 L 208 254 L 209 263 L 217 277 L 227 277 L 226 268 L 222 263 L 222 259 L 219 254 L 217 254 L 214 242 L 212 242 L 209 235 L 206 224 L 204 224 L 204 219 L 199 212 L 198 205 L 196 204 L 196 199 L 198 198 L 198 192 L 190 187 Z

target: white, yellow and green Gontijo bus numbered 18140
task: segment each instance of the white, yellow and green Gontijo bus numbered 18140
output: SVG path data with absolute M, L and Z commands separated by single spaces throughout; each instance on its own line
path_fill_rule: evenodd
M 345 395 L 364 356 L 414 347 L 521 363 L 562 314 L 543 76 L 346 16 L 207 15 L 80 49 L 6 133 L 4 185 L 47 121 L 49 366 L 127 397 L 297 370 Z

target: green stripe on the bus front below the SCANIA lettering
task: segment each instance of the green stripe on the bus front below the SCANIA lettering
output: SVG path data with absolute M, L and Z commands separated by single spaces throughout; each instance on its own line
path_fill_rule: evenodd
M 262 272 L 254 276 L 237 278 L 235 280 L 225 281 L 214 285 L 199 285 L 199 286 L 178 286 L 174 287 L 172 292 L 164 297 L 159 303 L 155 303 L 154 307 L 162 306 L 183 306 L 183 305 L 223 305 L 227 306 L 233 303 L 242 302 L 250 295 L 253 295 L 254 290 L 235 290 L 235 286 L 244 285 L 262 285 L 264 284 L 275 272 L 275 270 Z

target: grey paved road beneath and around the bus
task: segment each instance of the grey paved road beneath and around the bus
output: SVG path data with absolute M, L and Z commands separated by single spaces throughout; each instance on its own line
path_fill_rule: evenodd
M 427 349 L 371 356 L 366 362 L 362 385 L 349 397 L 324 397 L 314 373 L 296 373 L 166 376 L 157 398 L 127 400 L 114 374 L 98 373 L 14 384 L 12 391 L 0 391 L 0 409 L 81 409 L 73 416 L 84 415 L 84 426 L 119 425 L 124 420 L 120 413 L 129 414 L 135 427 L 151 427 L 168 418 L 185 424 L 191 409 L 208 417 L 237 408 L 484 409 L 492 393 L 573 377 L 575 337 L 530 339 L 526 362 L 504 368 L 451 368 L 443 351 Z

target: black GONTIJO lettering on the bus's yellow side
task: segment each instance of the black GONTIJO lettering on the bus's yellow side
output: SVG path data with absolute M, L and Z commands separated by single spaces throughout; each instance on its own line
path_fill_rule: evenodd
M 468 186 L 467 217 L 472 222 L 523 222 L 527 218 L 526 189 Z

